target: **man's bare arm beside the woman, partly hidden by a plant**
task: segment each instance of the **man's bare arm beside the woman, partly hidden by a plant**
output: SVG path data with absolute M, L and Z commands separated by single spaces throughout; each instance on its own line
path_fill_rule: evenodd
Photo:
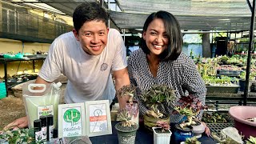
M 114 80 L 115 80 L 115 90 L 118 91 L 122 88 L 122 86 L 130 85 L 130 79 L 127 68 L 122 70 L 113 71 Z M 126 106 L 126 101 L 128 101 L 129 97 L 118 97 L 119 108 L 123 109 Z

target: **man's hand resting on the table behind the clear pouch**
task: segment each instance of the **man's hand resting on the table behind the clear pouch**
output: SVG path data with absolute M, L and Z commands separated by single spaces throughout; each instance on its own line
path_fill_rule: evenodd
M 17 130 L 28 126 L 28 119 L 26 117 L 18 118 L 14 122 L 9 123 L 3 130 Z

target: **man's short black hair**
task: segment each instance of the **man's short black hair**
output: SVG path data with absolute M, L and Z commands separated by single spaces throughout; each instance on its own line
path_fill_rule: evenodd
M 79 5 L 73 13 L 74 30 L 78 31 L 85 22 L 102 21 L 106 23 L 108 14 L 102 6 L 97 2 L 83 2 Z

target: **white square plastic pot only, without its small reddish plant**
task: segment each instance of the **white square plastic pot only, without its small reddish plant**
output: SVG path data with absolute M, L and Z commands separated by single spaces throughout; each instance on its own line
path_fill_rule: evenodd
M 158 129 L 161 128 L 152 127 L 152 130 L 154 132 L 154 144 L 169 144 L 171 136 L 170 130 L 166 130 L 166 132 L 159 132 Z

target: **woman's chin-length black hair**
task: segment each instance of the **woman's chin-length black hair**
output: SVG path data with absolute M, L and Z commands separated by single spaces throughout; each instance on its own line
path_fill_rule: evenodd
M 170 14 L 166 11 L 158 11 L 156 13 L 150 14 L 148 18 L 146 18 L 146 22 L 143 26 L 143 32 L 146 32 L 150 22 L 154 21 L 154 19 L 160 18 L 162 19 L 164 26 L 166 28 L 166 35 L 168 37 L 168 46 L 166 50 L 159 55 L 160 60 L 162 61 L 174 61 L 178 58 L 179 54 L 182 52 L 182 31 L 180 29 L 178 20 L 174 17 L 173 14 Z M 145 54 L 150 54 L 149 48 L 146 46 L 146 41 L 141 38 L 141 48 Z

